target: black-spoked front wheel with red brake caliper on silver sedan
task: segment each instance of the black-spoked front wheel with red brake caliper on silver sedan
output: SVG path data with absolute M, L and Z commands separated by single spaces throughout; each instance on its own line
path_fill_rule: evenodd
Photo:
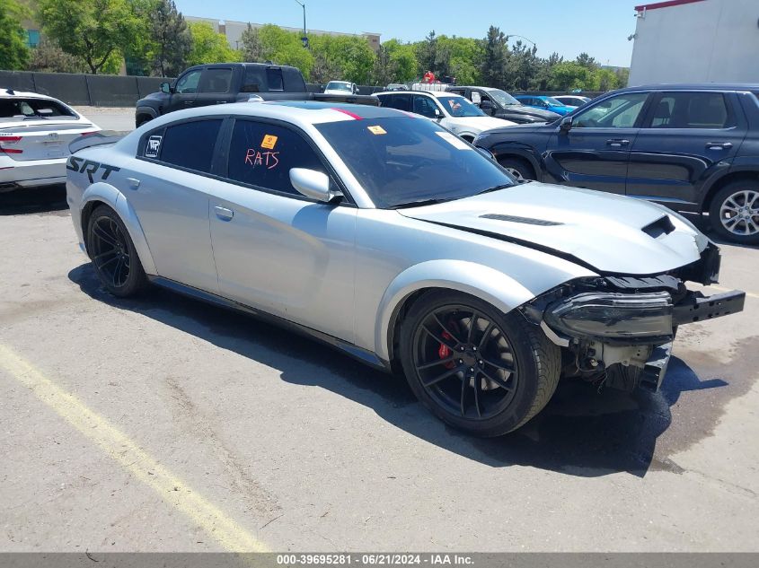
M 560 349 L 518 312 L 456 292 L 428 293 L 402 322 L 410 388 L 438 418 L 466 433 L 516 430 L 548 404 Z

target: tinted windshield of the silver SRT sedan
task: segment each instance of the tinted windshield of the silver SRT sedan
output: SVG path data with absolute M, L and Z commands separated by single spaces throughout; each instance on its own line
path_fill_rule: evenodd
M 379 208 L 514 185 L 496 162 L 431 120 L 340 120 L 316 128 Z

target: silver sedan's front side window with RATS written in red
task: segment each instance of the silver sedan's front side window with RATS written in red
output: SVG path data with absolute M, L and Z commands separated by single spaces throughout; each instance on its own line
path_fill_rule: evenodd
M 229 179 L 300 196 L 290 184 L 290 168 L 327 173 L 313 148 L 294 130 L 252 120 L 234 122 Z

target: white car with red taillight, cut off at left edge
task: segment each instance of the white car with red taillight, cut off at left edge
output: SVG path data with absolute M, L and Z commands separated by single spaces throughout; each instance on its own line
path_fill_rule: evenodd
M 68 144 L 99 131 L 60 100 L 0 91 L 0 192 L 66 183 Z

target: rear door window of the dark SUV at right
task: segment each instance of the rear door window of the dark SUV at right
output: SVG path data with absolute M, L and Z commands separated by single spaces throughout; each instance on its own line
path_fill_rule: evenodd
M 652 128 L 728 128 L 735 122 L 721 92 L 665 92 Z

